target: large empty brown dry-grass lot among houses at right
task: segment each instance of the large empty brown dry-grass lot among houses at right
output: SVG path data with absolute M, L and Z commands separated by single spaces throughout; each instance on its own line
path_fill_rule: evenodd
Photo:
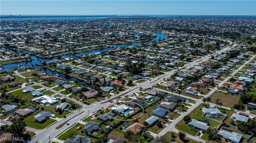
M 212 103 L 215 104 L 216 99 L 220 99 L 219 102 L 222 102 L 222 106 L 226 106 L 232 108 L 232 106 L 238 102 L 240 95 L 231 95 L 231 94 L 224 94 L 223 92 L 215 91 L 210 98 L 212 99 Z

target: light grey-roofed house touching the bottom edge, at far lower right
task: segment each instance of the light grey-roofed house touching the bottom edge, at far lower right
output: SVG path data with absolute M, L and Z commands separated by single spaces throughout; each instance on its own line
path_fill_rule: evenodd
M 218 135 L 224 139 L 228 139 L 231 143 L 240 143 L 243 136 L 240 133 L 236 133 L 231 130 L 228 131 L 226 129 L 220 129 Z

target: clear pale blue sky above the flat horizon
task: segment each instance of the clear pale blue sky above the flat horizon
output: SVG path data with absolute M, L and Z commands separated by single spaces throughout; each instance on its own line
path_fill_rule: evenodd
M 0 0 L 0 14 L 256 16 L 256 0 Z

